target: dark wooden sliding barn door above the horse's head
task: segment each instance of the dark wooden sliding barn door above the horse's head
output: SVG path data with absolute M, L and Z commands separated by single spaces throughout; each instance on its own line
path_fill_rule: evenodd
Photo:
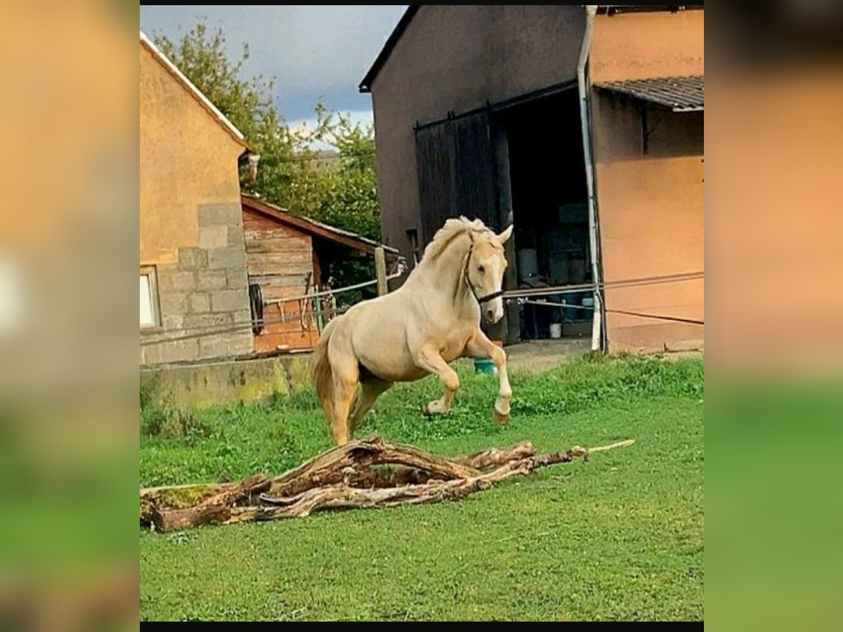
M 486 112 L 416 129 L 424 244 L 448 217 L 477 217 L 487 226 L 498 228 L 492 138 Z

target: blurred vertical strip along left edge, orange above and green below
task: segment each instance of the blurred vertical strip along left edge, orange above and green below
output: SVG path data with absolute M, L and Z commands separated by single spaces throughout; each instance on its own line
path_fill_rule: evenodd
M 0 16 L 0 621 L 126 628 L 137 5 L 3 3 Z

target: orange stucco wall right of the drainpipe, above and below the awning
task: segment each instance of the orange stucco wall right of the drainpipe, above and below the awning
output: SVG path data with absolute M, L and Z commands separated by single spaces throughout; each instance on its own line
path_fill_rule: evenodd
M 703 12 L 598 16 L 591 83 L 703 74 Z M 703 114 L 649 107 L 593 89 L 595 185 L 604 280 L 704 271 Z M 606 308 L 703 320 L 704 282 L 605 292 Z M 606 315 L 609 351 L 701 348 L 703 327 Z

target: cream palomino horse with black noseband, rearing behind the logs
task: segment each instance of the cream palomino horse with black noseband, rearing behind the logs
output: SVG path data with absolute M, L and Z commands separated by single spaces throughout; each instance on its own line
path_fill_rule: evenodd
M 459 357 L 495 362 L 500 383 L 492 413 L 497 423 L 507 423 L 512 398 L 507 356 L 480 323 L 481 317 L 486 323 L 503 317 L 503 244 L 512 233 L 512 226 L 496 235 L 480 220 L 448 219 L 403 286 L 330 321 L 311 370 L 334 441 L 342 445 L 353 437 L 363 415 L 393 383 L 429 373 L 439 376 L 445 392 L 425 412 L 447 413 L 459 388 L 448 363 Z

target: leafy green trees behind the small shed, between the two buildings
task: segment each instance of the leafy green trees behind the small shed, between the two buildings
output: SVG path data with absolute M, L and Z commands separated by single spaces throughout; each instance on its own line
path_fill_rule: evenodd
M 243 78 L 249 46 L 231 60 L 222 29 L 210 32 L 200 22 L 178 41 L 155 37 L 156 44 L 202 93 L 243 132 L 249 147 L 260 154 L 257 179 L 241 172 L 244 190 L 305 217 L 380 240 L 380 211 L 372 126 L 360 126 L 321 102 L 314 105 L 316 126 L 293 131 L 277 110 L 274 79 Z M 325 142 L 339 153 L 339 164 L 314 169 L 314 142 Z M 373 263 L 338 258 L 325 265 L 333 287 L 372 279 Z M 341 303 L 369 296 L 357 292 Z

